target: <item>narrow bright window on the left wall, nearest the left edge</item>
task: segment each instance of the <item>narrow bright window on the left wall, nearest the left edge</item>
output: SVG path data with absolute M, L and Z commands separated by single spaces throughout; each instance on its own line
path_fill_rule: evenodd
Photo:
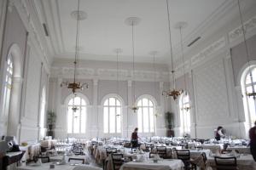
M 9 101 L 12 89 L 13 71 L 13 60 L 11 55 L 9 55 L 9 58 L 7 59 L 5 79 L 3 82 L 3 116 L 8 116 L 9 114 Z

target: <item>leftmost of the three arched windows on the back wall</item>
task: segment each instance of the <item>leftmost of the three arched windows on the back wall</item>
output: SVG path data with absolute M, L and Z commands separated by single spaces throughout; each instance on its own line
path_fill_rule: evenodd
M 67 133 L 85 133 L 86 102 L 79 96 L 67 104 Z

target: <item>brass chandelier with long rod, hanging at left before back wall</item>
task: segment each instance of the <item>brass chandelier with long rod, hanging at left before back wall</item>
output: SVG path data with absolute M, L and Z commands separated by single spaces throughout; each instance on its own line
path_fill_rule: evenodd
M 76 32 L 76 47 L 75 47 L 75 58 L 73 62 L 74 71 L 73 71 L 73 82 L 61 82 L 61 88 L 65 86 L 68 89 L 71 89 L 73 94 L 77 92 L 77 90 L 83 90 L 84 88 L 88 88 L 87 83 L 76 82 L 76 72 L 77 72 L 77 58 L 79 56 L 79 8 L 80 8 L 80 0 L 78 2 L 78 11 L 76 14 L 77 20 L 77 32 Z M 75 110 L 76 111 L 76 110 Z

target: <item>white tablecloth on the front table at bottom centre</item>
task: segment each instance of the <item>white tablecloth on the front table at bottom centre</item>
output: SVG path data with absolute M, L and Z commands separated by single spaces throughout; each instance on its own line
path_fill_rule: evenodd
M 183 170 L 183 161 L 181 160 L 161 160 L 154 163 L 152 160 L 137 162 L 130 161 L 125 163 L 120 170 Z

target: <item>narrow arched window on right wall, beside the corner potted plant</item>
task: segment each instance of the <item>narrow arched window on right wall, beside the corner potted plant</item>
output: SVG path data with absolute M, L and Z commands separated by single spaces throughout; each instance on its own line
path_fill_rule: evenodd
M 189 94 L 183 94 L 179 99 L 180 125 L 183 135 L 190 133 L 190 102 Z

